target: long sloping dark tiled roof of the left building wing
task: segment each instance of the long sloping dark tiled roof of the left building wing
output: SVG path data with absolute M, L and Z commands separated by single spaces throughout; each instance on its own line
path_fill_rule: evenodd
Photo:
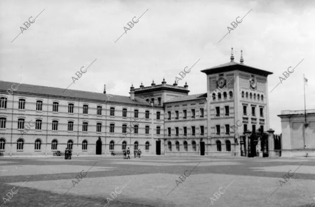
M 0 81 L 0 91 L 4 91 L 3 93 L 8 94 L 6 92 L 8 89 L 16 88 L 19 83 Z M 39 86 L 39 85 L 30 85 L 30 84 L 20 84 L 18 89 L 15 92 L 20 93 L 28 93 L 28 94 L 36 94 L 50 97 L 60 97 L 60 98 L 74 98 L 74 99 L 89 99 L 93 101 L 107 101 L 107 102 L 119 102 L 119 103 L 129 103 L 136 105 L 145 105 L 150 106 L 144 99 L 136 97 L 135 100 L 131 100 L 129 96 L 122 95 L 113 95 L 113 94 L 104 94 L 104 93 L 96 93 L 89 91 L 80 91 L 80 90 L 71 90 L 65 88 L 55 88 L 48 86 Z

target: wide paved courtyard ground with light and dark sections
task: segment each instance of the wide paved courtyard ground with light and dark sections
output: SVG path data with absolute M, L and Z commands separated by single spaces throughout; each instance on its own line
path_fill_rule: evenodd
M 0 205 L 311 207 L 314 180 L 310 158 L 1 157 Z

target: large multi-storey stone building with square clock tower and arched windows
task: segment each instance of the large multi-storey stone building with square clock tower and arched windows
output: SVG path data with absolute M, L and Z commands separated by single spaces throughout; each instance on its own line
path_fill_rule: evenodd
M 188 85 L 130 88 L 130 96 L 0 81 L 0 152 L 52 155 L 144 154 L 258 156 L 272 151 L 267 76 L 241 58 L 208 68 L 207 92 Z M 259 130 L 258 130 L 259 129 Z M 269 142 L 268 142 L 269 139 Z

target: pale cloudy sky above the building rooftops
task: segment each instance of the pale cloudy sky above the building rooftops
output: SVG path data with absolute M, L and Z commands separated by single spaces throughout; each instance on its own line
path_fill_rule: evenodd
M 252 10 L 251 10 L 252 9 Z M 43 11 L 44 10 L 44 11 Z M 251 10 L 251 11 L 250 11 Z M 43 12 L 42 12 L 43 11 Z M 131 30 L 123 27 L 147 11 Z M 222 41 L 236 17 L 243 19 Z M 41 13 L 42 12 L 42 13 Z M 40 14 L 41 13 L 41 14 Z M 29 28 L 20 27 L 40 14 Z M 185 66 L 190 94 L 206 92 L 200 71 L 230 61 L 273 72 L 269 91 L 288 67 L 290 77 L 269 93 L 270 127 L 281 132 L 281 110 L 315 109 L 315 1 L 1 1 L 0 79 L 66 88 L 82 66 L 93 64 L 70 89 L 129 95 L 139 87 L 168 84 Z M 136 19 L 134 19 L 136 20 Z M 238 19 L 239 20 L 239 19 Z M 25 27 L 25 26 L 23 26 Z

